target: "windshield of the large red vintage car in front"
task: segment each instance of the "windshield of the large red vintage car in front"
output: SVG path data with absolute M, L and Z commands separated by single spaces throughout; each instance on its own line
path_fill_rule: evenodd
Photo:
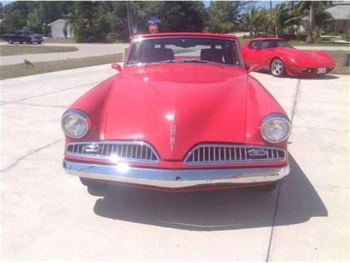
M 143 38 L 135 41 L 128 65 L 137 63 L 218 63 L 241 66 L 235 41 L 221 38 Z

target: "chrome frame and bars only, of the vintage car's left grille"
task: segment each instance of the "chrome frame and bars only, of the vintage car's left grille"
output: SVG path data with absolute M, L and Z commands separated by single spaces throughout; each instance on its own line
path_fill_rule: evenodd
M 75 154 L 68 151 L 69 146 L 79 146 L 84 144 L 91 144 L 92 146 L 95 145 L 102 145 L 102 154 Z M 108 155 L 109 146 L 116 145 L 116 152 L 118 152 L 119 146 L 121 146 L 121 152 L 124 151 L 124 146 L 126 146 L 126 152 L 128 151 L 128 146 L 146 146 L 146 159 L 141 158 L 125 158 L 125 157 L 118 157 L 121 161 L 131 161 L 135 163 L 159 163 L 160 157 L 153 148 L 151 144 L 148 144 L 146 141 L 80 141 L 80 142 L 72 142 L 70 144 L 67 144 L 66 146 L 66 153 L 68 156 L 76 156 L 76 157 L 83 157 L 83 158 L 90 158 L 90 159 L 104 159 L 104 160 L 111 160 L 112 154 Z M 75 149 L 75 148 L 74 148 Z M 73 151 L 75 151 L 73 149 Z M 106 155 L 104 155 L 104 151 L 106 149 Z M 113 149 L 113 148 L 112 148 Z M 133 147 L 131 147 L 133 149 Z M 148 149 L 151 151 L 151 154 L 148 153 Z M 138 147 L 136 147 L 136 156 L 138 154 Z M 140 149 L 140 156 L 142 157 L 143 154 L 143 147 Z M 147 156 L 150 156 L 150 159 L 147 159 Z M 152 156 L 155 156 L 155 160 L 152 159 Z M 115 161 L 115 160 L 111 160 Z

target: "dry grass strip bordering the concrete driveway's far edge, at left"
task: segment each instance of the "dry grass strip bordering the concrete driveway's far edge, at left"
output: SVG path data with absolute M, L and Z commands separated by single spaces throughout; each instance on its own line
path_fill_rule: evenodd
M 14 64 L 0 66 L 0 80 L 5 80 L 12 77 L 23 77 L 41 73 L 50 73 L 59 70 L 70 70 L 73 68 L 84 68 L 93 65 L 103 65 L 107 63 L 120 62 L 123 60 L 122 53 L 101 55 L 89 58 L 75 58 L 67 60 L 37 62 L 31 65 Z

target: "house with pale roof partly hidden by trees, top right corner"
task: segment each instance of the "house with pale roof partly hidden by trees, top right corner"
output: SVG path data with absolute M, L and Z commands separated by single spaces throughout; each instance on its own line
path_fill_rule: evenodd
M 322 29 L 336 33 L 349 32 L 350 28 L 350 1 L 332 1 L 332 6 L 326 11 L 332 15 L 334 21 L 325 24 Z

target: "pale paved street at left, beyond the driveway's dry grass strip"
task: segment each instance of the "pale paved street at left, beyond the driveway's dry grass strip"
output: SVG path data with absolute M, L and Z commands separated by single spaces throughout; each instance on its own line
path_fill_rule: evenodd
M 1 45 L 9 45 L 9 43 L 0 43 Z M 19 44 L 13 44 L 19 45 Z M 21 44 L 23 45 L 23 44 Z M 31 62 L 39 61 L 53 61 L 53 60 L 67 60 L 73 58 L 87 58 L 87 57 L 96 57 L 99 55 L 109 55 L 114 53 L 124 53 L 128 43 L 114 43 L 114 44 L 95 44 L 95 43 L 43 43 L 41 45 L 50 45 L 50 46 L 75 46 L 78 48 L 77 51 L 72 52 L 62 52 L 62 53 L 43 53 L 43 54 L 28 54 L 28 55 L 6 55 L 0 57 L 1 65 L 11 65 L 23 63 L 24 58 L 27 58 Z M 37 45 L 35 45 L 37 46 Z M 39 46 L 39 45 L 38 45 Z

